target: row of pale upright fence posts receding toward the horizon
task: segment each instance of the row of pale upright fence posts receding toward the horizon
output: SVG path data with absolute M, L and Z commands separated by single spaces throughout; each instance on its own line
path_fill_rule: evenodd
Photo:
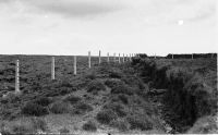
M 131 61 L 132 60 L 132 57 L 135 57 L 136 54 L 133 54 L 131 53 L 130 56 L 126 54 L 126 61 L 128 61 L 128 57 L 129 57 L 129 60 Z M 88 51 L 88 69 L 90 69 L 92 66 L 92 63 L 90 63 L 90 51 Z M 113 62 L 116 62 L 117 59 L 116 59 L 116 53 L 113 53 Z M 109 63 L 110 62 L 110 56 L 109 56 L 109 52 L 107 53 L 107 62 Z M 120 57 L 120 53 L 119 53 L 119 57 L 118 57 L 118 62 L 121 63 L 121 57 Z M 125 62 L 125 56 L 123 53 L 123 63 Z M 99 56 L 98 56 L 98 63 L 100 64 L 101 63 L 101 51 L 99 51 Z M 16 64 L 15 64 L 15 93 L 20 93 L 20 61 L 16 60 Z M 77 74 L 76 72 L 76 65 L 77 62 L 76 62 L 76 56 L 74 56 L 74 60 L 73 60 L 73 70 L 74 70 L 74 75 Z M 56 59 L 55 57 L 51 57 L 51 79 L 56 79 Z

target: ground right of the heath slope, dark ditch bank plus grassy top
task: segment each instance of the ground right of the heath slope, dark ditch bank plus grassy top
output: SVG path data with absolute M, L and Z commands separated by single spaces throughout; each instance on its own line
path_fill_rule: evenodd
M 172 133 L 184 133 L 195 122 L 189 133 L 214 133 L 215 131 L 217 133 L 216 59 L 136 58 L 132 64 L 140 71 L 144 82 L 149 84 L 152 94 L 164 94 L 159 102 L 164 105 L 162 114 L 167 123 L 173 127 Z M 154 95 L 152 97 L 154 98 Z M 205 126 L 198 121 L 208 124 Z

